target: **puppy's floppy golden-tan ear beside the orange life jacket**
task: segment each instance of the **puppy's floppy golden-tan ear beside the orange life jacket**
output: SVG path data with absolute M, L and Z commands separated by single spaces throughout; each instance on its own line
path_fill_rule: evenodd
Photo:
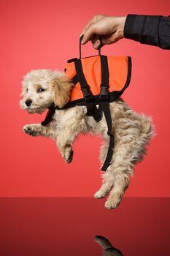
M 50 91 L 52 93 L 53 102 L 55 105 L 58 105 L 59 108 L 62 108 L 69 102 L 72 86 L 73 83 L 66 75 L 61 75 L 51 80 Z

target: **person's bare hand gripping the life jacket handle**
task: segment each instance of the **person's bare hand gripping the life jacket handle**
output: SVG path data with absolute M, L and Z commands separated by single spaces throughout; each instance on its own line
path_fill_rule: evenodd
M 93 48 L 98 49 L 99 45 L 110 45 L 122 39 L 125 19 L 126 17 L 95 15 L 82 29 L 82 45 L 91 41 Z

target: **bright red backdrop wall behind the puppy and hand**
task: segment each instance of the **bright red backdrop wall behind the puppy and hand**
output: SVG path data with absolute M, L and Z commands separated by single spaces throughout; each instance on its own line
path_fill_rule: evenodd
M 0 196 L 93 196 L 101 185 L 101 138 L 80 136 L 71 165 L 55 142 L 31 138 L 23 125 L 42 116 L 20 110 L 21 80 L 31 69 L 64 69 L 78 55 L 78 39 L 93 15 L 169 15 L 170 1 L 0 1 L 1 24 L 1 178 Z M 96 54 L 90 43 L 83 55 Z M 123 94 L 131 108 L 152 116 L 158 135 L 125 196 L 169 196 L 169 50 L 123 39 L 104 47 L 107 55 L 132 57 L 131 86 Z

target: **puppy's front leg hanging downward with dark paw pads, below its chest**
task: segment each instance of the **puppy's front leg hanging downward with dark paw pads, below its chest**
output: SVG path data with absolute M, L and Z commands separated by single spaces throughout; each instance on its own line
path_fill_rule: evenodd
M 81 132 L 85 132 L 84 108 L 74 107 L 66 111 L 57 128 L 56 143 L 66 163 L 72 162 L 72 144 Z

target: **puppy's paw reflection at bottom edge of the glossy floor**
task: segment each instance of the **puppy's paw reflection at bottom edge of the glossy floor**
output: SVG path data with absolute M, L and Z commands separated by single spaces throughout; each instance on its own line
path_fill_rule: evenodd
M 101 248 L 103 249 L 104 256 L 123 256 L 122 252 L 119 249 L 115 248 L 110 244 L 107 238 L 104 236 L 96 236 L 94 240 L 100 244 Z

